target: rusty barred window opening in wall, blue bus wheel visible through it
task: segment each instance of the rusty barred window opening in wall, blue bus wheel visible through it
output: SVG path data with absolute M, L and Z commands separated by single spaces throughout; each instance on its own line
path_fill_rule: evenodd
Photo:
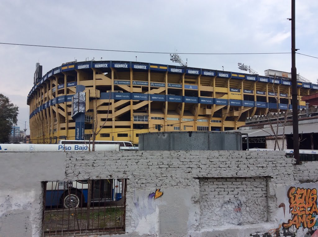
M 125 179 L 43 182 L 43 236 L 125 233 Z

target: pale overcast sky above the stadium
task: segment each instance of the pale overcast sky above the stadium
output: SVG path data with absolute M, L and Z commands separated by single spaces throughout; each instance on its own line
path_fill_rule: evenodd
M 296 0 L 296 48 L 318 56 L 318 1 Z M 19 1 L 0 2 L 0 42 L 63 47 L 183 53 L 291 51 L 291 0 Z M 35 64 L 43 75 L 62 63 L 122 60 L 172 64 L 169 55 L 52 49 L 0 44 L 0 93 L 29 121 L 27 95 Z M 290 72 L 291 55 L 180 55 L 188 66 L 239 72 L 245 63 Z M 317 83 L 318 59 L 296 55 L 297 73 Z M 27 134 L 30 133 L 28 129 Z

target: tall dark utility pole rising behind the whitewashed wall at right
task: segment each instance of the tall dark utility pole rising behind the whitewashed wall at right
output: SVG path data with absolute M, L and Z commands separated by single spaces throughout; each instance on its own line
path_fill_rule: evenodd
M 295 0 L 292 0 L 292 108 L 293 108 L 293 140 L 294 158 L 296 164 L 300 164 L 299 159 L 299 132 L 298 132 L 298 98 L 297 98 L 297 69 L 296 69 L 296 43 L 295 43 Z

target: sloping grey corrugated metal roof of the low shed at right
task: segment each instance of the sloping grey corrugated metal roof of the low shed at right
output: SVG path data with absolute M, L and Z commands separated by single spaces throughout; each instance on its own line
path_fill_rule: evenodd
M 249 137 L 262 137 L 262 136 L 274 135 L 271 128 L 233 130 L 233 131 L 227 131 L 227 132 L 234 132 L 234 131 L 247 133 Z M 274 131 L 276 133 L 276 127 L 274 127 Z M 300 134 L 301 133 L 318 133 L 318 123 L 299 124 L 298 131 Z M 285 127 L 285 135 L 287 134 L 293 134 L 293 126 Z M 283 135 L 283 127 L 278 127 L 278 135 Z

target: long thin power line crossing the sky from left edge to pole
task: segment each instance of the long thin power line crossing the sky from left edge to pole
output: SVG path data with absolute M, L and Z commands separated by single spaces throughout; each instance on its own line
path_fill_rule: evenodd
M 91 48 L 75 48 L 75 47 L 36 45 L 36 44 L 20 44 L 20 43 L 0 43 L 0 44 L 20 45 L 20 46 L 34 46 L 34 47 L 46 47 L 46 48 L 59 48 L 59 49 L 98 50 L 98 51 L 126 52 L 126 53 L 172 54 L 172 52 L 130 51 L 130 50 L 114 50 L 114 49 L 91 49 Z M 282 53 L 282 52 L 274 52 L 274 53 L 179 53 L 179 52 L 178 52 L 178 54 L 197 54 L 197 55 L 246 55 L 246 54 L 290 54 L 290 53 Z

